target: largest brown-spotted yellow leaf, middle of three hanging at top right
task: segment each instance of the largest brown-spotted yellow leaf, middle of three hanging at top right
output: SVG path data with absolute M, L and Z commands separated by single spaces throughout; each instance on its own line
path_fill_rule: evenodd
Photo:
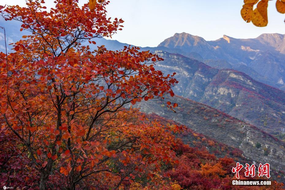
M 253 10 L 252 23 L 256 26 L 264 27 L 268 24 L 267 18 L 268 0 L 261 0 L 257 8 Z

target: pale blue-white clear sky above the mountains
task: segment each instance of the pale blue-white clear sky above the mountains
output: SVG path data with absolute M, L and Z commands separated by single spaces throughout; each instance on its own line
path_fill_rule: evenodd
M 25 5 L 25 0 L 0 2 L 2 5 Z M 53 0 L 46 2 L 50 7 Z M 87 0 L 79 0 L 80 4 L 85 2 Z M 224 34 L 255 38 L 262 33 L 285 33 L 285 14 L 276 11 L 275 1 L 269 1 L 269 23 L 263 28 L 243 21 L 242 5 L 243 0 L 110 0 L 107 10 L 108 17 L 125 21 L 125 27 L 113 39 L 143 47 L 157 46 L 177 32 L 187 32 L 205 40 L 216 40 Z

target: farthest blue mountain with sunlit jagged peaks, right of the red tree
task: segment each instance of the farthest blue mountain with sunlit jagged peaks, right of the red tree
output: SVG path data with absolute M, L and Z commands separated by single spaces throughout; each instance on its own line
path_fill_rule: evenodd
M 252 76 L 256 80 L 264 77 L 260 82 L 285 88 L 285 36 L 282 34 L 262 34 L 254 39 L 236 39 L 224 35 L 218 40 L 206 41 L 199 36 L 176 33 L 158 45 L 161 46 L 196 52 L 203 59 L 222 59 L 232 65 L 224 62 L 226 65 L 222 66 L 219 63 L 219 68 L 238 69 L 241 64 L 249 66 L 260 75 L 257 78 Z

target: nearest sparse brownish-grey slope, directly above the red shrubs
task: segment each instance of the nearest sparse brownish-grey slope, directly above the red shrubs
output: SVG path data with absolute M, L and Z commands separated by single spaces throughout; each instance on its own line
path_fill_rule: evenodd
M 237 120 L 217 109 L 181 97 L 167 97 L 165 101 L 177 102 L 176 113 L 160 100 L 140 102 L 142 112 L 155 113 L 172 119 L 190 129 L 241 149 L 243 155 L 253 161 L 268 162 L 273 169 L 284 170 L 284 143 L 253 125 Z M 187 138 L 187 137 L 182 137 Z M 261 147 L 256 147 L 260 143 Z

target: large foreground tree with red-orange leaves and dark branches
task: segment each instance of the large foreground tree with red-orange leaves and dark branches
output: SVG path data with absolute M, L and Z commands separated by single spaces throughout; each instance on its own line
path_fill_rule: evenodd
M 93 11 L 77 3 L 56 0 L 46 11 L 44 1 L 28 0 L 1 11 L 30 32 L 7 60 L 0 55 L 1 134 L 21 145 L 40 189 L 156 188 L 161 166 L 174 162 L 179 128 L 149 123 L 128 104 L 173 96 L 177 81 L 154 69 L 162 59 L 149 51 L 83 45 L 112 36 L 123 21 L 106 17 L 106 1 Z

